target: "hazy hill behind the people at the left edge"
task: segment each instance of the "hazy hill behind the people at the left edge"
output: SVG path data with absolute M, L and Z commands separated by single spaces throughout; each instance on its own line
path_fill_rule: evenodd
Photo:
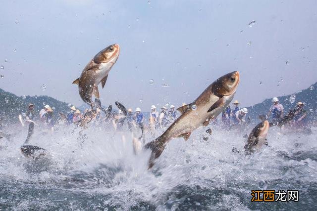
M 37 114 L 43 109 L 44 105 L 49 104 L 54 111 L 54 118 L 58 117 L 59 112 L 67 113 L 70 106 L 68 103 L 45 95 L 17 96 L 0 89 L 0 119 L 2 123 L 17 122 L 18 115 L 26 113 L 29 103 L 34 104 L 34 109 Z

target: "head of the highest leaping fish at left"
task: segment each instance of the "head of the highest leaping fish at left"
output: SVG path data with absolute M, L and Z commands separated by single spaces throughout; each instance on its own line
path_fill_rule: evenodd
M 97 55 L 94 57 L 94 62 L 96 64 L 100 63 L 115 63 L 120 54 L 120 46 L 118 44 L 111 44 L 107 46 L 105 49 L 101 50 Z

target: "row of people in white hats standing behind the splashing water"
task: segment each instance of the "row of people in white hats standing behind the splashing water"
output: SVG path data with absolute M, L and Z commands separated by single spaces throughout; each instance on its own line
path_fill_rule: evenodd
M 284 117 L 284 107 L 277 97 L 272 98 L 272 105 L 268 109 L 265 119 L 271 118 L 271 124 L 278 125 L 281 119 Z M 239 101 L 235 100 L 233 107 L 228 105 L 222 112 L 221 120 L 222 127 L 224 129 L 238 128 L 243 127 L 244 125 L 250 122 L 250 118 L 246 118 L 248 114 L 247 108 L 239 108 Z M 185 105 L 185 103 L 183 104 Z M 304 109 L 305 104 L 303 102 L 298 102 L 296 106 L 296 113 L 293 120 L 290 122 L 291 127 L 301 128 L 306 126 L 306 116 L 307 112 Z M 81 112 L 75 106 L 71 106 L 67 114 L 59 113 L 59 118 L 53 118 L 53 109 L 50 105 L 45 105 L 39 113 L 39 124 L 45 127 L 49 127 L 51 130 L 54 130 L 54 127 L 58 125 L 80 125 L 85 126 L 89 122 L 94 122 L 95 124 L 100 124 L 103 121 L 112 123 L 113 127 L 117 129 L 122 127 L 124 122 L 127 123 L 127 126 L 130 130 L 136 127 L 149 127 L 153 130 L 164 129 L 173 123 L 179 113 L 175 110 L 174 105 L 170 105 L 169 109 L 165 106 L 160 107 L 160 111 L 157 110 L 155 105 L 152 105 L 149 112 L 149 119 L 146 120 L 146 115 L 143 114 L 141 109 L 138 107 L 133 110 L 129 108 L 125 113 L 121 110 L 118 112 L 110 112 L 109 115 L 104 115 L 102 110 L 97 108 L 95 110 L 85 109 Z M 28 110 L 26 112 L 26 121 L 35 121 L 36 114 L 34 111 L 34 105 L 31 103 L 28 105 Z M 216 124 L 216 119 L 212 121 Z

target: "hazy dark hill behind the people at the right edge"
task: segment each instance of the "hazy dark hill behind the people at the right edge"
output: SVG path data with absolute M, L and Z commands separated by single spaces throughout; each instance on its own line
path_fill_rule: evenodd
M 291 97 L 292 96 L 292 97 Z M 294 99 L 295 96 L 295 100 Z M 274 96 L 272 96 L 274 97 Z M 296 106 L 296 103 L 302 101 L 305 103 L 305 110 L 308 111 L 308 120 L 316 121 L 317 119 L 317 83 L 312 84 L 307 89 L 286 96 L 278 96 L 279 102 L 284 106 L 285 113 Z M 264 100 L 262 103 L 255 104 L 248 108 L 248 116 L 252 120 L 258 121 L 260 114 L 267 114 L 269 107 L 272 105 L 271 98 Z

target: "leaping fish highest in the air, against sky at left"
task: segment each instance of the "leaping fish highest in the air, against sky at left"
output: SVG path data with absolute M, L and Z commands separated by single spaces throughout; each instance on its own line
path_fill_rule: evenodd
M 111 44 L 101 50 L 87 64 L 80 77 L 73 84 L 78 84 L 79 95 L 85 103 L 92 105 L 92 96 L 99 99 L 98 85 L 104 88 L 108 74 L 120 54 L 118 44 Z

